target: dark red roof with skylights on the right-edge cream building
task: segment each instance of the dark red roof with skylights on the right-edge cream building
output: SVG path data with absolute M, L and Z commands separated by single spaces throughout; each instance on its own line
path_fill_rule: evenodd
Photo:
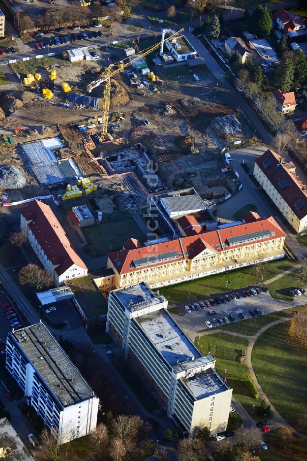
M 307 215 L 307 190 L 302 190 L 302 188 L 306 186 L 300 184 L 290 171 L 285 168 L 284 165 L 281 165 L 280 159 L 280 155 L 276 154 L 276 152 L 271 149 L 268 149 L 261 155 L 261 157 L 258 157 L 255 160 L 255 163 L 259 166 L 261 171 L 263 171 L 275 189 L 277 189 L 295 216 L 302 219 Z M 270 160 L 272 161 L 272 164 L 267 168 L 262 163 L 265 160 L 268 160 L 268 163 L 270 163 Z M 278 184 L 282 179 L 286 179 L 289 183 L 289 185 L 284 187 L 284 189 L 282 189 Z M 261 184 L 261 186 L 263 187 L 263 184 Z M 299 200 L 304 201 L 305 205 L 298 210 L 295 207 L 295 203 Z

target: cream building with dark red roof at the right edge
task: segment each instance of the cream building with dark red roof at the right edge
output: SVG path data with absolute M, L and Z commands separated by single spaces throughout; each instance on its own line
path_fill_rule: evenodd
M 254 176 L 296 232 L 307 229 L 307 187 L 292 162 L 268 149 L 255 161 Z

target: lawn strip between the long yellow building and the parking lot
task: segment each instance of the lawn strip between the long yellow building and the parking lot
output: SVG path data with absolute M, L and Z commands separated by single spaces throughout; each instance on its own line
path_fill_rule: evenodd
M 286 271 L 290 267 L 289 260 L 277 260 L 267 264 L 267 272 L 264 280 L 270 279 L 281 272 Z M 230 280 L 227 290 L 243 288 L 251 284 L 261 282 L 261 274 L 257 277 L 254 274 L 252 266 L 244 267 L 236 271 L 223 272 L 209 277 L 203 277 L 191 282 L 183 282 L 172 286 L 160 288 L 160 292 L 164 295 L 169 304 L 176 304 L 189 299 L 198 299 L 202 296 L 214 296 L 216 293 L 223 293 L 226 290 L 226 282 Z M 282 279 L 279 279 L 282 280 Z M 279 282 L 281 283 L 281 282 Z

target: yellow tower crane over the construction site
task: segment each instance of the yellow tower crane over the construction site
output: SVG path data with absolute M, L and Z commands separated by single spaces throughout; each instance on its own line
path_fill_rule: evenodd
M 151 48 L 148 48 L 147 50 L 143 51 L 142 53 L 138 54 L 138 56 L 131 61 L 124 62 L 124 61 L 119 61 L 115 64 L 110 64 L 104 72 L 101 74 L 101 76 L 97 79 L 94 80 L 93 82 L 89 83 L 87 85 L 87 91 L 90 93 L 93 88 L 96 88 L 99 86 L 101 83 L 104 83 L 104 102 L 103 102 L 103 108 L 102 108 L 102 129 L 101 129 L 101 141 L 104 141 L 105 138 L 107 137 L 107 129 L 108 129 L 108 119 L 109 119 L 109 106 L 110 106 L 110 90 L 111 90 L 111 82 L 110 79 L 111 77 L 114 77 L 116 74 L 119 72 L 123 71 L 128 67 L 129 65 L 133 64 L 135 61 L 138 61 L 140 58 L 143 58 L 147 54 L 151 53 L 153 50 L 156 50 L 161 46 L 162 43 L 165 43 L 169 39 L 175 37 L 176 35 L 181 34 L 184 29 L 178 30 L 178 32 L 175 32 L 173 35 L 170 35 L 168 38 L 166 38 L 163 41 L 160 41 L 156 45 L 154 45 Z M 116 67 L 116 69 L 113 70 L 113 68 Z

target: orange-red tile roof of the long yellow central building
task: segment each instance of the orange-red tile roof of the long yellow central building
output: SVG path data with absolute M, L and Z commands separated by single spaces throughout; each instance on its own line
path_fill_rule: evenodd
M 275 219 L 271 216 L 267 219 L 261 219 L 253 223 L 247 223 L 226 229 L 221 229 L 220 231 L 204 232 L 200 236 L 182 237 L 179 239 L 170 240 L 168 242 L 161 242 L 142 248 L 135 248 L 130 251 L 115 251 L 109 253 L 108 258 L 112 262 L 116 272 L 121 274 L 135 272 L 139 271 L 144 267 L 147 268 L 167 264 L 168 262 L 172 262 L 172 260 L 170 259 L 164 262 L 158 262 L 156 264 L 151 264 L 148 266 L 144 265 L 141 268 L 134 267 L 133 260 L 168 253 L 170 251 L 177 252 L 178 258 L 176 258 L 176 261 L 184 259 L 193 259 L 198 254 L 202 253 L 206 248 L 214 251 L 215 253 L 219 253 L 220 251 L 223 251 L 222 245 L 225 244 L 228 238 L 244 236 L 252 232 L 263 231 L 266 229 L 268 229 L 271 233 L 275 232 L 275 236 L 271 236 L 268 239 L 262 240 L 272 240 L 274 238 L 285 236 L 284 231 L 280 228 Z M 256 240 L 255 242 L 261 242 L 262 240 Z M 246 245 L 246 243 L 233 245 L 232 248 L 242 247 L 243 245 Z

